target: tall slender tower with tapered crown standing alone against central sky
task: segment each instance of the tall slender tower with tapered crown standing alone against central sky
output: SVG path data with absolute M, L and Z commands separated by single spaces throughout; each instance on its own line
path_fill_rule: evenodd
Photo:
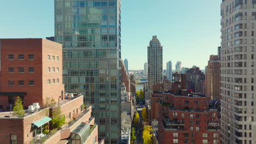
M 152 92 L 153 85 L 160 82 L 162 82 L 162 46 L 160 41 L 155 35 L 153 36 L 152 40 L 150 40 L 149 46 L 148 46 L 149 91 Z

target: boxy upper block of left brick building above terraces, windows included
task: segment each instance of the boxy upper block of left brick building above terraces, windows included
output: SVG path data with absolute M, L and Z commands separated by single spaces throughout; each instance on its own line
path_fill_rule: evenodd
M 20 96 L 27 107 L 64 99 L 62 45 L 45 39 L 0 39 L 0 109 Z

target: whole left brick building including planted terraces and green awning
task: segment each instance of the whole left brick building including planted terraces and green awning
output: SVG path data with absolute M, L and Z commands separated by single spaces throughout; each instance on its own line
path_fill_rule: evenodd
M 0 141 L 104 143 L 98 140 L 92 107 L 83 106 L 83 95 L 64 91 L 60 44 L 45 39 L 0 39 L 0 52 Z M 10 109 L 18 96 L 24 101 L 24 116 Z M 52 99 L 56 103 L 49 106 Z M 50 125 L 51 131 L 46 134 L 46 126 L 58 107 L 65 124 L 58 129 Z

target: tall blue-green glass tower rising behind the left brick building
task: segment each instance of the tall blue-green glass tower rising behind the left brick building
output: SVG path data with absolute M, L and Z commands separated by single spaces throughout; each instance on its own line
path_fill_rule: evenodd
M 55 41 L 63 44 L 65 91 L 92 105 L 99 137 L 121 132 L 120 0 L 55 0 Z

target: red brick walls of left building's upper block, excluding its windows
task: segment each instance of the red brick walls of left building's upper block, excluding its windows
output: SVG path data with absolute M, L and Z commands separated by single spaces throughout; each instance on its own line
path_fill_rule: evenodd
M 14 55 L 14 60 L 8 59 L 10 54 Z M 34 60 L 28 59 L 29 54 L 34 55 Z M 24 55 L 24 60 L 19 60 L 18 55 Z M 59 56 L 59 61 L 47 61 L 47 55 Z M 48 65 L 55 67 L 55 70 L 59 67 L 59 73 L 47 73 Z M 9 67 L 14 68 L 14 73 L 8 73 Z M 25 68 L 25 72 L 18 73 L 19 67 Z M 28 73 L 28 67 L 34 67 L 34 73 Z M 60 83 L 48 86 L 47 79 L 54 78 L 59 78 Z M 44 39 L 1 39 L 0 79 L 0 92 L 26 92 L 25 107 L 32 103 L 39 103 L 42 106 L 46 97 L 53 97 L 57 100 L 64 89 L 62 85 L 62 45 Z M 15 85 L 8 86 L 9 80 L 14 80 Z M 25 85 L 19 86 L 19 80 L 24 80 Z M 34 86 L 28 85 L 29 80 L 34 80 Z M 0 101 L 0 105 L 7 103 Z

